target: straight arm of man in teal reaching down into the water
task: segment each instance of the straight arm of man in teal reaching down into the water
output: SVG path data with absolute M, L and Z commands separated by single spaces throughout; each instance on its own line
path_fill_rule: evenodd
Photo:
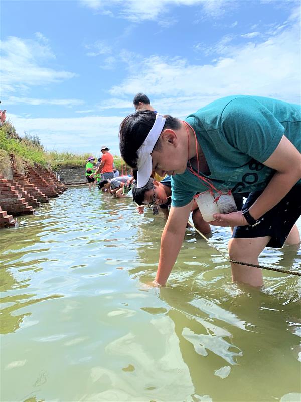
M 160 258 L 155 284 L 164 286 L 181 249 L 192 202 L 172 207 L 161 237 Z

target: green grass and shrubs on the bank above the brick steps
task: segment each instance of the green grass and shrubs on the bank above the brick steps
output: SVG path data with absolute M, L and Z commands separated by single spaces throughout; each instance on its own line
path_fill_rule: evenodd
M 19 160 L 25 160 L 33 165 L 39 163 L 44 167 L 51 167 L 53 170 L 58 168 L 76 168 L 83 167 L 91 153 L 76 154 L 73 152 L 45 151 L 40 138 L 35 135 L 26 134 L 25 137 L 19 137 L 16 134 L 14 126 L 10 122 L 5 122 L 0 127 L 0 165 L 9 163 L 9 154 L 20 157 Z M 20 162 L 21 163 L 21 162 Z M 120 156 L 114 155 L 114 163 L 118 170 L 122 170 L 122 160 Z M 0 171 L 1 171 L 0 166 Z M 123 166 L 124 162 L 123 162 Z M 125 167 L 123 167 L 124 169 Z M 127 172 L 131 168 L 127 166 Z

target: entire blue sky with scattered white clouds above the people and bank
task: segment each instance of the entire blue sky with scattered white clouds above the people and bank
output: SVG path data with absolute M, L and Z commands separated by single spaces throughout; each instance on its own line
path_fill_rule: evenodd
M 212 100 L 300 102 L 300 3 L 39 0 L 1 4 L 1 105 L 48 149 L 119 154 L 118 127 L 146 93 L 183 118 Z

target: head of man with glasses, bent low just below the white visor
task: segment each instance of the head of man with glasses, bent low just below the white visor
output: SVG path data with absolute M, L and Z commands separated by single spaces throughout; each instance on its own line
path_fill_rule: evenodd
M 150 178 L 144 187 L 138 188 L 136 184 L 132 186 L 133 199 L 138 205 L 165 204 L 168 196 L 165 186 L 158 181 Z

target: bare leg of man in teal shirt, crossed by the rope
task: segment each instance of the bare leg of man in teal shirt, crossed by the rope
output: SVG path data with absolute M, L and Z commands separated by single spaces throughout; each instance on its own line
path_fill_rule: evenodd
M 270 236 L 249 239 L 230 239 L 228 248 L 231 260 L 249 262 L 258 265 L 258 256 L 267 245 Z M 231 262 L 233 282 L 246 283 L 251 286 L 262 286 L 263 278 L 260 268 Z

